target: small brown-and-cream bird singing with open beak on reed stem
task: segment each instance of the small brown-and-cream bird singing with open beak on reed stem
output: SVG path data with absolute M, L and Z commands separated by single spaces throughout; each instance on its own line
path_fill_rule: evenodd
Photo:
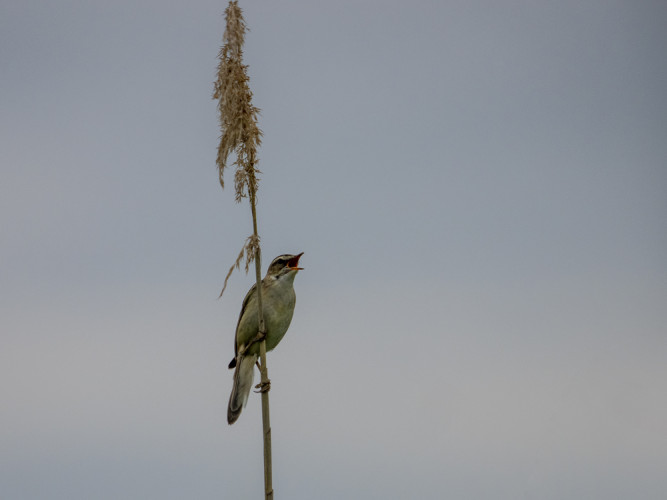
M 303 269 L 299 267 L 299 259 L 302 255 L 303 252 L 296 255 L 279 255 L 273 259 L 266 271 L 266 276 L 262 279 L 262 313 L 266 330 L 267 352 L 278 345 L 292 322 L 296 304 L 294 278 Z M 241 313 L 236 324 L 234 359 L 229 363 L 229 368 L 234 368 L 232 393 L 227 406 L 229 425 L 238 420 L 241 410 L 248 402 L 255 364 L 259 356 L 259 342 L 255 341 L 259 332 L 256 291 L 257 284 L 254 284 L 243 299 Z

